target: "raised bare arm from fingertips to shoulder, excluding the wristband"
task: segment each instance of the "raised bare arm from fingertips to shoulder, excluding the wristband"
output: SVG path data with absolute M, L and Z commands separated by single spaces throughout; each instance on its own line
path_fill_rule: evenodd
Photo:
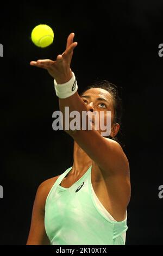
M 73 50 L 77 46 L 77 42 L 73 42 L 73 38 L 74 33 L 71 33 L 67 39 L 65 52 L 58 55 L 57 60 L 37 60 L 37 62 L 31 62 L 30 64 L 47 69 L 60 86 L 67 83 L 72 78 L 70 65 Z M 59 98 L 59 106 L 62 113 L 65 112 L 65 107 L 69 107 L 70 112 L 78 111 L 81 115 L 82 111 L 89 111 L 89 108 L 85 105 L 78 92 L 65 99 Z M 96 130 L 66 130 L 66 132 L 98 164 L 105 176 L 112 174 L 128 175 L 128 160 L 120 144 L 112 141 L 112 139 L 102 137 Z M 111 132 L 112 136 L 116 135 L 116 127 Z

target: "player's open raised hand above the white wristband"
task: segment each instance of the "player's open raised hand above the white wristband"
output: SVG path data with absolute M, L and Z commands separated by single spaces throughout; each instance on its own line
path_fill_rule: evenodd
M 74 33 L 68 35 L 66 50 L 57 56 L 56 60 L 39 59 L 36 62 L 30 62 L 30 65 L 38 68 L 47 69 L 49 74 L 56 80 L 57 83 L 66 83 L 72 77 L 70 68 L 73 50 L 77 46 L 77 42 L 73 42 Z

